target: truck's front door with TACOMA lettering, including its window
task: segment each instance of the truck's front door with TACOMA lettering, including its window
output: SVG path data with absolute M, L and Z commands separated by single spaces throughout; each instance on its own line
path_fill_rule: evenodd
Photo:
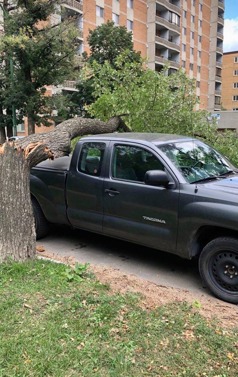
M 103 232 L 175 252 L 179 184 L 174 189 L 144 184 L 146 171 L 153 169 L 165 167 L 149 147 L 111 141 L 103 184 Z

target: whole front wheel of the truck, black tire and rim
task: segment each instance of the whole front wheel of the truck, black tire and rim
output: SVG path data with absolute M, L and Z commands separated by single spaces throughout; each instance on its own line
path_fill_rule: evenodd
M 199 272 L 218 299 L 238 303 L 238 239 L 215 238 L 199 257 Z

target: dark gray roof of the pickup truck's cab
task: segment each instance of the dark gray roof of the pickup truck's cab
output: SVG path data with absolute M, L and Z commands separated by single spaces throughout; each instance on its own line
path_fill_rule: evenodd
M 114 132 L 101 133 L 99 135 L 86 136 L 83 139 L 97 138 L 100 140 L 120 140 L 120 141 L 146 141 L 152 144 L 167 144 L 176 141 L 189 141 L 191 136 L 170 135 L 168 133 L 147 133 L 147 132 Z

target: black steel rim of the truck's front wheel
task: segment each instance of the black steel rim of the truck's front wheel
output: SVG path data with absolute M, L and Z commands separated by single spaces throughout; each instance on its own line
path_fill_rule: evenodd
M 221 291 L 229 295 L 238 294 L 238 252 L 216 251 L 209 260 L 208 274 Z

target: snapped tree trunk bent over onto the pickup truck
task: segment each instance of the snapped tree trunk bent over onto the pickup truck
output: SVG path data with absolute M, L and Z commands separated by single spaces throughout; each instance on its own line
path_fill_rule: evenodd
M 76 136 L 130 131 L 120 116 L 108 122 L 86 118 L 64 121 L 54 129 L 0 146 L 0 261 L 35 257 L 36 238 L 30 199 L 30 168 L 48 158 L 67 156 Z

